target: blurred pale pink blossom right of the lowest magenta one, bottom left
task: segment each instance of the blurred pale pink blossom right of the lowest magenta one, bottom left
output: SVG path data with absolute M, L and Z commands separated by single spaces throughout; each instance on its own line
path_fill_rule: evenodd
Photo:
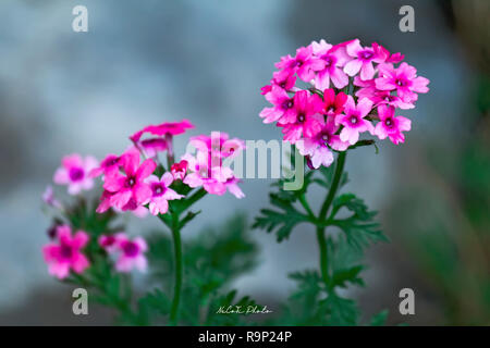
M 115 270 L 119 272 L 131 272 L 137 269 L 145 272 L 147 269 L 147 260 L 145 252 L 148 246 L 144 238 L 136 237 L 130 239 L 124 233 L 115 235 L 101 236 L 99 245 L 110 254 L 115 256 Z

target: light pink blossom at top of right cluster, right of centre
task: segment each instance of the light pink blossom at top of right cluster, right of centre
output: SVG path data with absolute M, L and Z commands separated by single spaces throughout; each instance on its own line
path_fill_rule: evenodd
M 362 47 L 358 39 L 346 45 L 347 54 L 353 59 L 345 64 L 344 72 L 348 76 L 357 75 L 360 71 L 362 79 L 371 79 L 375 76 L 375 63 L 381 63 L 383 57 L 376 52 L 371 47 Z

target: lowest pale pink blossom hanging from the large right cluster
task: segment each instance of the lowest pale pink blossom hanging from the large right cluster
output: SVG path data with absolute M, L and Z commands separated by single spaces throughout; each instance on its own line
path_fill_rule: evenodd
M 320 165 L 329 166 L 333 162 L 333 153 L 330 148 L 335 151 L 345 151 L 350 144 L 342 141 L 336 135 L 339 125 L 335 124 L 335 117 L 321 116 L 321 128 L 310 138 L 302 139 L 296 142 L 296 147 L 301 154 L 309 157 L 311 166 L 318 169 Z

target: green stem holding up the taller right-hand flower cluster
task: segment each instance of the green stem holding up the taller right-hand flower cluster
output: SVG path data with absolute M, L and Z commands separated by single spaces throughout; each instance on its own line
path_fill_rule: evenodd
M 327 213 L 332 204 L 333 198 L 335 198 L 336 190 L 339 189 L 339 184 L 342 178 L 342 173 L 344 171 L 345 165 L 345 157 L 347 151 L 343 151 L 339 153 L 339 158 L 336 159 L 335 172 L 333 174 L 332 185 L 330 186 L 329 194 L 321 206 L 320 213 L 318 215 L 318 226 L 317 226 L 317 239 L 318 247 L 320 248 L 320 271 L 321 277 L 323 282 L 329 288 L 330 277 L 329 277 L 329 264 L 328 264 L 328 254 L 327 254 L 327 239 L 324 236 L 326 226 L 323 224 Z

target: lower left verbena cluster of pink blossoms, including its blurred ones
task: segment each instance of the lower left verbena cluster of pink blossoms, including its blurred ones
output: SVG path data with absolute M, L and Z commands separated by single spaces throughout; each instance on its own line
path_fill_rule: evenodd
M 122 154 L 110 153 L 100 163 L 91 156 L 66 156 L 56 171 L 53 182 L 66 185 L 70 195 L 78 196 L 83 190 L 93 189 L 94 179 L 100 176 L 103 192 L 97 213 L 112 209 L 131 211 L 139 217 L 148 212 L 152 215 L 168 213 L 169 201 L 183 199 L 193 188 L 201 187 L 211 195 L 230 191 L 237 198 L 244 197 L 238 178 L 223 165 L 224 159 L 236 156 L 244 148 L 244 141 L 240 139 L 230 139 L 224 133 L 192 137 L 189 145 L 196 152 L 185 153 L 174 163 L 173 136 L 191 128 L 194 125 L 188 120 L 149 125 L 130 137 L 133 144 Z M 166 164 L 160 161 L 160 153 L 166 154 Z M 174 184 L 181 185 L 180 191 L 184 194 L 177 192 Z M 51 186 L 42 199 L 46 204 L 64 210 Z M 52 241 L 44 248 L 50 274 L 65 278 L 71 271 L 79 274 L 90 265 L 89 258 L 83 252 L 90 238 L 89 232 L 72 233 L 70 225 L 63 223 L 51 229 L 50 237 Z M 124 232 L 103 234 L 97 245 L 113 256 L 117 271 L 146 270 L 144 253 L 147 245 L 142 237 L 131 239 Z

